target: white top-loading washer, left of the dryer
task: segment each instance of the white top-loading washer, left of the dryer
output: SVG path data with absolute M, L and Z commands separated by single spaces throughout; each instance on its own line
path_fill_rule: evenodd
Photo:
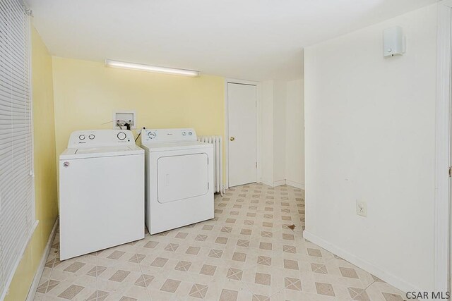
M 81 130 L 59 156 L 61 260 L 144 238 L 144 150 L 130 130 Z

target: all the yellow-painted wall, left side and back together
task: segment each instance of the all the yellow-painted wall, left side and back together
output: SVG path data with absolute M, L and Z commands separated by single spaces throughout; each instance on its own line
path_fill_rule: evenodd
M 58 215 L 58 154 L 66 148 L 73 130 L 112 128 L 112 123 L 102 123 L 112 121 L 115 110 L 133 110 L 140 127 L 190 127 L 198 135 L 223 135 L 224 89 L 224 78 L 216 76 L 186 78 L 105 68 L 103 63 L 90 61 L 52 59 L 33 28 L 35 203 L 40 223 L 6 300 L 25 300 L 28 295 Z

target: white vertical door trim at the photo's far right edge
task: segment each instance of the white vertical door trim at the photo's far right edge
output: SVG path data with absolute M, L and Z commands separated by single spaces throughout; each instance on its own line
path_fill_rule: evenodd
M 434 290 L 449 291 L 451 247 L 451 20 L 452 1 L 438 4 L 434 192 Z

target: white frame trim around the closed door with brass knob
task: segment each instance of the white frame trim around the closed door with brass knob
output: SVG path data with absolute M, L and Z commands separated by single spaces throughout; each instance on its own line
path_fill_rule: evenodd
M 256 182 L 260 183 L 262 178 L 261 171 L 261 82 L 253 80 L 238 80 L 235 78 L 225 78 L 225 189 L 229 188 L 229 128 L 228 128 L 228 99 L 227 99 L 227 84 L 241 84 L 256 86 Z

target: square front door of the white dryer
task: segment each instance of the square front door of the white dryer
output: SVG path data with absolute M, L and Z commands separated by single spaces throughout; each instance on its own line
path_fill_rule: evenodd
M 206 195 L 207 154 L 162 156 L 157 159 L 157 200 L 159 203 Z

